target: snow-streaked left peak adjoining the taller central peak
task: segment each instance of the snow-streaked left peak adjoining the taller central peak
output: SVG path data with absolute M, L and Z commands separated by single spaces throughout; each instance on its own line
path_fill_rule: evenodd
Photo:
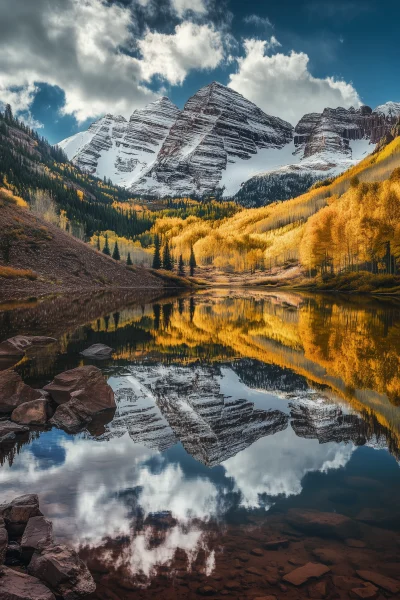
M 163 97 L 135 110 L 129 121 L 105 115 L 58 146 L 81 169 L 130 188 L 154 163 L 179 112 Z

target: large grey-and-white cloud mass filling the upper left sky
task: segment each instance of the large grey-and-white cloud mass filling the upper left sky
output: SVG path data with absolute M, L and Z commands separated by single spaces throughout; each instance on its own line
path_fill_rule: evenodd
M 173 0 L 179 15 L 189 4 Z M 194 6 L 204 8 L 201 0 Z M 128 116 L 159 95 L 146 85 L 153 75 L 181 83 L 191 69 L 222 60 L 221 34 L 212 26 L 184 22 L 172 35 L 147 30 L 138 40 L 132 11 L 105 0 L 3 0 L 0 101 L 27 111 L 46 83 L 64 91 L 62 113 L 78 121 L 106 112 Z

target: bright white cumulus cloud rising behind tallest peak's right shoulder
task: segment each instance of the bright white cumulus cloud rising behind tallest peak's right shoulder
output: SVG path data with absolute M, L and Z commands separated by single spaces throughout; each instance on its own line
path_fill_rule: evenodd
M 360 106 L 360 97 L 351 83 L 314 77 L 304 52 L 267 54 L 276 47 L 275 42 L 275 38 L 245 40 L 245 55 L 237 59 L 238 70 L 230 76 L 229 86 L 266 113 L 294 125 L 305 113 L 321 112 L 326 107 Z

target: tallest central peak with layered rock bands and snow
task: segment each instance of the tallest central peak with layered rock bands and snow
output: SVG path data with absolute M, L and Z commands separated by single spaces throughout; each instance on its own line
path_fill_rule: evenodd
M 237 163 L 262 149 L 279 152 L 293 127 L 262 112 L 219 83 L 199 90 L 186 103 L 153 167 L 134 184 L 136 194 L 204 195 L 230 185 Z

